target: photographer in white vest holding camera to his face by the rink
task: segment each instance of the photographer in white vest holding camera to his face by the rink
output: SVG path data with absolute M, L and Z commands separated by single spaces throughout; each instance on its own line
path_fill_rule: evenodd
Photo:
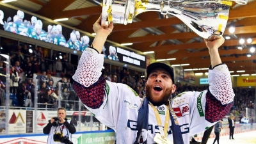
M 73 144 L 71 142 L 71 134 L 76 132 L 76 128 L 71 122 L 67 122 L 66 115 L 65 108 L 58 108 L 58 117 L 52 117 L 44 127 L 44 134 L 49 134 L 47 144 Z

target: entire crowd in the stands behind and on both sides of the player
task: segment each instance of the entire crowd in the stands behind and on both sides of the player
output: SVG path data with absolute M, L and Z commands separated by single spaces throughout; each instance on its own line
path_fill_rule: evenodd
M 61 105 L 67 109 L 77 109 L 74 107 L 78 102 L 78 98 L 74 90 L 72 90 L 72 75 L 74 67 L 71 65 L 68 58 L 63 55 L 63 58 L 57 58 L 54 53 L 51 58 L 44 57 L 44 52 L 41 47 L 35 47 L 32 52 L 29 52 L 28 47 L 18 47 L 15 52 L 5 52 L 10 56 L 10 93 L 16 95 L 17 106 L 24 106 L 24 99 L 28 93 L 31 95 L 31 101 L 35 101 L 35 92 L 38 92 L 38 108 L 57 108 L 58 100 L 62 100 Z M 57 61 L 56 61 L 57 60 Z M 4 74 L 6 71 L 6 63 L 0 61 L 0 71 Z M 35 81 L 33 74 L 40 74 L 38 77 L 38 90 L 35 91 Z M 52 76 L 61 77 L 60 81 L 54 81 Z M 140 97 L 145 96 L 145 77 L 141 76 L 140 72 L 135 72 L 131 76 L 127 68 L 112 66 L 111 72 L 108 68 L 102 69 L 102 76 L 108 81 L 115 83 L 124 83 L 130 86 Z M 4 89 L 5 77 L 0 76 L 0 86 Z M 59 86 L 61 83 L 61 97 L 59 98 Z M 203 91 L 207 90 L 208 86 L 194 86 L 190 84 L 176 83 L 177 90 L 172 97 L 187 91 Z M 253 108 L 255 102 L 255 88 L 234 88 L 236 97 L 234 98 L 234 106 L 230 113 L 243 117 L 245 108 Z M 65 101 L 66 100 L 66 101 Z M 65 101 L 65 102 L 64 102 Z M 3 102 L 2 102 L 3 103 Z M 1 104 L 1 102 L 0 102 Z M 78 104 L 77 104 L 78 105 Z

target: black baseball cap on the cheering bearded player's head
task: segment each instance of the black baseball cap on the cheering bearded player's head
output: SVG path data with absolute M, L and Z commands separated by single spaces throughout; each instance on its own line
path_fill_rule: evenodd
M 147 67 L 147 77 L 150 75 L 152 70 L 154 70 L 156 68 L 163 68 L 164 70 L 169 72 L 169 74 L 171 76 L 171 79 L 172 79 L 172 83 L 175 84 L 173 68 L 170 67 L 169 65 L 166 65 L 165 63 L 156 62 L 156 63 L 151 63 L 150 65 L 148 65 L 148 67 Z

